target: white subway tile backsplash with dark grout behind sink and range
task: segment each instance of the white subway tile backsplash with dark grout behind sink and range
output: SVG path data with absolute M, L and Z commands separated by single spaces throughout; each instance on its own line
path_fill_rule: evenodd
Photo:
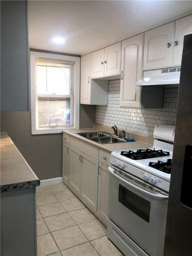
M 153 135 L 156 124 L 176 122 L 179 88 L 164 88 L 162 109 L 120 107 L 120 80 L 109 81 L 108 105 L 96 106 L 96 123 Z

